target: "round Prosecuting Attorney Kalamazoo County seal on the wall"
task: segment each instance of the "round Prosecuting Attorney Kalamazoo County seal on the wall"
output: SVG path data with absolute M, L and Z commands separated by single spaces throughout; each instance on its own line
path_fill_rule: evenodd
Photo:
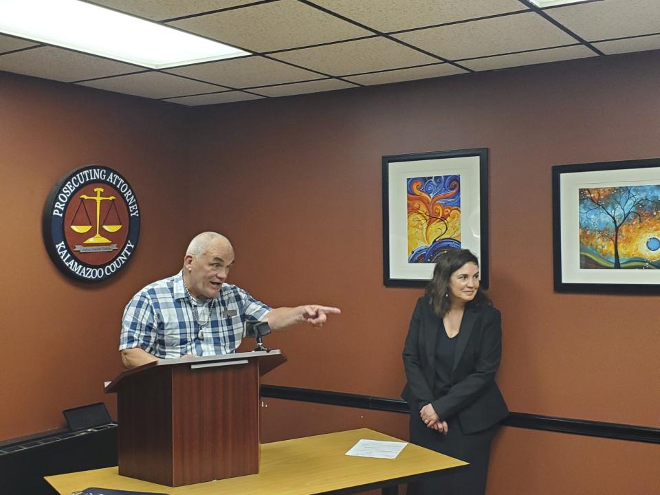
M 76 168 L 46 199 L 46 250 L 60 270 L 77 280 L 100 282 L 122 270 L 139 237 L 135 192 L 112 168 Z

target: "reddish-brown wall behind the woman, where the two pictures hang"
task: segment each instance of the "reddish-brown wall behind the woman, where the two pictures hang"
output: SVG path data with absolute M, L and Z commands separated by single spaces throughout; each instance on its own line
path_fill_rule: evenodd
M 657 297 L 555 294 L 551 239 L 551 166 L 660 157 L 659 76 L 660 52 L 647 52 L 199 109 L 196 225 L 234 242 L 232 282 L 272 305 L 344 311 L 321 331 L 269 336 L 289 362 L 265 382 L 399 395 L 422 291 L 382 285 L 381 157 L 483 146 L 511 410 L 660 426 Z M 384 413 L 266 404 L 270 440 L 361 426 L 407 434 Z M 628 477 L 629 493 L 657 493 L 654 448 L 505 428 L 489 493 L 621 493 Z

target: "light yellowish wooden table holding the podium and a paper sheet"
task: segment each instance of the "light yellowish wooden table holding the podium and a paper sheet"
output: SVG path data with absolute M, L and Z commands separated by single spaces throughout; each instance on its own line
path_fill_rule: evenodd
M 384 494 L 396 494 L 399 483 L 466 464 L 412 443 L 406 445 L 396 459 L 345 455 L 360 439 L 400 441 L 361 428 L 264 443 L 261 445 L 259 474 L 175 488 L 120 476 L 117 467 L 58 474 L 45 479 L 61 495 L 71 495 L 87 487 L 171 495 L 329 495 L 354 494 L 377 488 L 382 488 Z

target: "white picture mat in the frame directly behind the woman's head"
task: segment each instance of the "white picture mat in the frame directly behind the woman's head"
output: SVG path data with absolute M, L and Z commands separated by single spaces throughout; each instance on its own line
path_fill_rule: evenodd
M 461 177 L 461 248 L 481 264 L 480 157 L 451 157 L 390 162 L 388 165 L 390 278 L 430 280 L 433 263 L 408 263 L 407 180 L 412 177 Z

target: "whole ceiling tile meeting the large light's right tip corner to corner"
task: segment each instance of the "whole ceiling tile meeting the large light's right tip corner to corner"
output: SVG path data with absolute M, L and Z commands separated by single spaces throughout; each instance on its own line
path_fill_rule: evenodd
M 273 58 L 332 76 L 360 74 L 437 62 L 437 58 L 385 38 L 346 41 L 273 54 Z

